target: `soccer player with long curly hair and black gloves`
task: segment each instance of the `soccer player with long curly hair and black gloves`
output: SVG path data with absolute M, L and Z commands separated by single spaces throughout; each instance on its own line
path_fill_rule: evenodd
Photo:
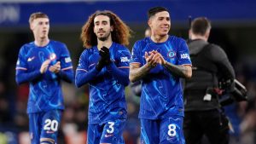
M 75 84 L 90 86 L 88 144 L 124 143 L 125 86 L 129 84 L 130 28 L 111 11 L 96 11 L 84 24 L 84 52 Z

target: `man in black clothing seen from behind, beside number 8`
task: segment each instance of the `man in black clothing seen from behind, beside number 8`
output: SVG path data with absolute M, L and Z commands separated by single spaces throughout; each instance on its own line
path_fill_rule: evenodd
M 193 20 L 189 30 L 193 76 L 184 82 L 183 130 L 187 144 L 201 144 L 203 135 L 211 144 L 229 143 L 228 119 L 219 105 L 218 83 L 233 82 L 235 72 L 224 50 L 207 42 L 210 31 L 211 23 L 205 17 Z

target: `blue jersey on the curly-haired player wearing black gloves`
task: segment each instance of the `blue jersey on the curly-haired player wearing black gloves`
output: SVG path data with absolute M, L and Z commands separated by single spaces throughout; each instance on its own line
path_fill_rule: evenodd
M 100 58 L 96 46 L 85 49 L 80 56 L 76 71 L 78 87 L 89 84 L 89 124 L 106 123 L 117 118 L 126 118 L 125 86 L 129 84 L 129 49 L 119 43 L 109 48 L 111 63 L 101 72 L 96 70 Z

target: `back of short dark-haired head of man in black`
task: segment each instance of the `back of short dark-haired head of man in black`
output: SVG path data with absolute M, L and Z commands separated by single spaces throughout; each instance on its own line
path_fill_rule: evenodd
M 195 18 L 191 23 L 192 32 L 201 36 L 205 35 L 211 27 L 211 22 L 206 17 Z

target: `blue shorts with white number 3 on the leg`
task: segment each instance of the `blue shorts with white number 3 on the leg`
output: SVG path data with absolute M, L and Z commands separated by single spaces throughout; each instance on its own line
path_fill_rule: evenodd
M 89 124 L 87 144 L 118 143 L 124 144 L 123 130 L 126 119 L 115 119 L 106 124 Z

